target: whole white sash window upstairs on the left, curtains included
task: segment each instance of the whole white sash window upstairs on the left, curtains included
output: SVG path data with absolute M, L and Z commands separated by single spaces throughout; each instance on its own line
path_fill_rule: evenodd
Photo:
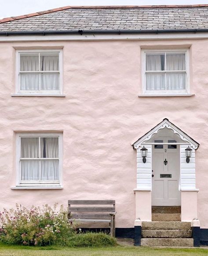
M 62 94 L 61 50 L 17 51 L 17 94 Z

